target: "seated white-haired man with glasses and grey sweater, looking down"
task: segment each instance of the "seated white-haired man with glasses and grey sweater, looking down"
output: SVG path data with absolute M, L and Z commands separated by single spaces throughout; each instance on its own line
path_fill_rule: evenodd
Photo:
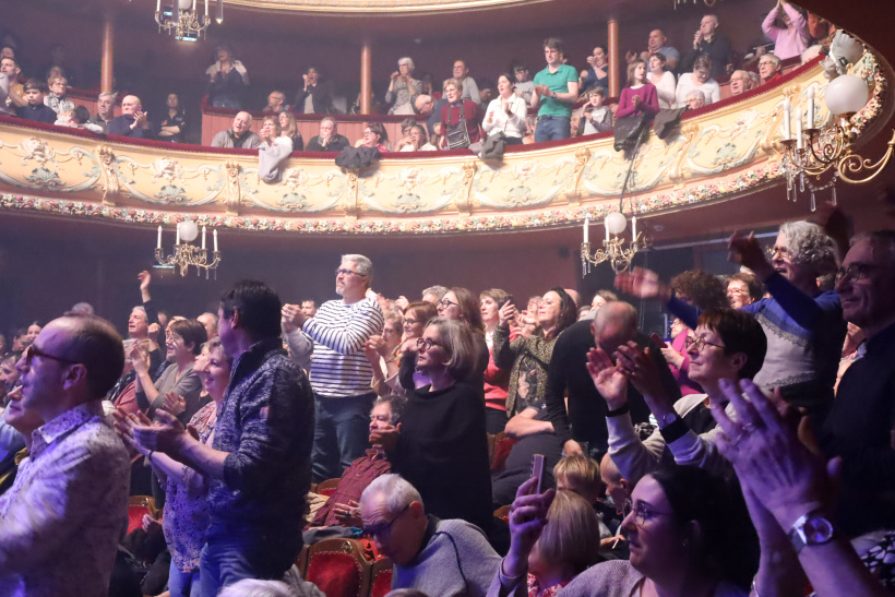
M 393 589 L 484 597 L 500 566 L 481 529 L 427 515 L 419 492 L 398 475 L 382 475 L 367 486 L 360 518 L 380 553 L 394 563 Z

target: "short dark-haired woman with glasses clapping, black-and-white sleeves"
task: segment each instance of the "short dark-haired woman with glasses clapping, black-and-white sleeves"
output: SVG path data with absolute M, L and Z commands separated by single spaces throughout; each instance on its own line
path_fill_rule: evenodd
M 733 309 L 704 311 L 687 353 L 690 377 L 705 393 L 677 402 L 664 390 L 655 361 L 636 344 L 620 346 L 616 363 L 602 349 L 592 349 L 587 370 L 606 399 L 609 455 L 622 476 L 636 482 L 676 463 L 729 471 L 729 464 L 717 451 L 715 441 L 720 430 L 709 408 L 726 403 L 721 390 L 725 380 L 752 379 L 759 372 L 766 347 L 764 331 L 750 313 Z M 628 381 L 643 394 L 658 421 L 658 429 L 645 440 L 635 432 L 628 409 Z

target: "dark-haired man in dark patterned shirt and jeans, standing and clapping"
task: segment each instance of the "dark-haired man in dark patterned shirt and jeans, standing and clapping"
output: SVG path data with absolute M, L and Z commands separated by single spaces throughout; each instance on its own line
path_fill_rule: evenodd
M 279 312 L 279 298 L 260 282 L 222 295 L 220 343 L 234 371 L 211 446 L 164 411 L 159 425 L 133 427 L 143 446 L 210 479 L 202 595 L 242 578 L 281 578 L 301 551 L 313 404 L 308 378 L 283 353 Z

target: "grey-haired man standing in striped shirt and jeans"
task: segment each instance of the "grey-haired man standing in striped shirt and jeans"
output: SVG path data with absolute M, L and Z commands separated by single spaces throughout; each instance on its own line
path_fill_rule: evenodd
M 368 447 L 368 417 L 375 393 L 363 346 L 370 336 L 382 333 L 384 323 L 379 305 L 367 297 L 372 279 L 369 259 L 343 255 L 336 270 L 336 294 L 342 300 L 324 302 L 313 318 L 299 309 L 289 311 L 293 325 L 313 341 L 314 481 L 341 477 Z

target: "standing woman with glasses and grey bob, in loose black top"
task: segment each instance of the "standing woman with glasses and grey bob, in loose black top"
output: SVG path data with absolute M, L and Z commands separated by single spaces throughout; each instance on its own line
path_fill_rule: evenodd
M 428 323 L 411 350 L 430 384 L 408 391 L 402 422 L 379 441 L 393 470 L 419 490 L 427 512 L 487 533 L 493 516 L 485 407 L 481 385 L 467 381 L 479 356 L 473 336 L 458 320 Z

